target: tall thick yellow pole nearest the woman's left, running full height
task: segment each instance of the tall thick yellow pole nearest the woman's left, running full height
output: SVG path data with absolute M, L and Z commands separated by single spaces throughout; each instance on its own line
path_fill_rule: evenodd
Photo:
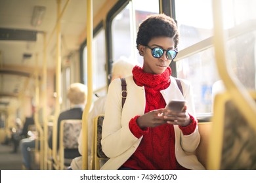
M 88 114 L 93 101 L 93 2 L 87 0 L 87 103 L 82 117 L 82 169 L 88 169 Z

